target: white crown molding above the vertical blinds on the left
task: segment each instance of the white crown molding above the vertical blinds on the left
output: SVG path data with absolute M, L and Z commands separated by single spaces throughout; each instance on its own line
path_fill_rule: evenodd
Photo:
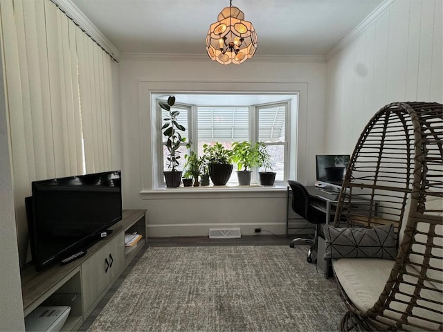
M 75 24 L 78 24 L 82 30 L 84 30 L 94 42 L 99 44 L 111 57 L 114 57 L 118 61 L 120 58 L 120 51 L 103 35 L 96 26 L 92 24 L 89 19 L 84 16 L 80 9 L 75 6 L 71 0 L 51 0 L 58 6 L 69 18 L 71 18 Z

